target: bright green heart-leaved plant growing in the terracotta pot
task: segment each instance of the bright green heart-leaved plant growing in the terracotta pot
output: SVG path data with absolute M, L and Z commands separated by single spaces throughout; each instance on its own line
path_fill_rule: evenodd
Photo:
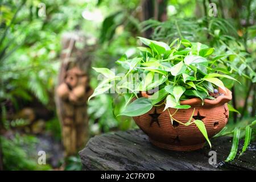
M 123 55 L 117 60 L 116 63 L 124 68 L 122 73 L 116 74 L 108 68 L 93 68 L 101 73 L 103 78 L 101 77 L 100 84 L 90 98 L 109 90 L 110 93 L 121 94 L 126 104 L 119 115 L 129 117 L 142 115 L 153 106 L 165 104 L 164 110 L 168 110 L 171 122 L 176 121 L 186 126 L 195 123 L 211 147 L 203 121 L 197 119 L 191 122 L 193 113 L 186 123 L 177 121 L 173 117 L 175 113 L 171 114 L 169 108 L 189 109 L 191 106 L 180 105 L 180 101 L 196 97 L 201 99 L 203 105 L 204 99 L 216 99 L 213 95 L 218 93 L 218 88 L 225 90 L 222 78 L 237 81 L 225 75 L 225 69 L 214 64 L 226 55 L 214 55 L 214 48 L 199 42 L 189 42 L 187 39 L 176 39 L 170 45 L 141 37 L 139 40 L 145 47 L 138 47 L 136 57 L 129 59 Z M 150 96 L 139 97 L 141 92 L 150 93 Z M 232 106 L 228 106 L 230 111 L 234 110 Z M 249 134 L 249 127 L 245 130 Z M 238 135 L 239 131 L 233 133 Z M 222 134 L 225 135 L 224 130 L 220 135 Z M 249 142 L 245 142 L 243 152 Z M 236 146 L 234 148 L 236 149 Z

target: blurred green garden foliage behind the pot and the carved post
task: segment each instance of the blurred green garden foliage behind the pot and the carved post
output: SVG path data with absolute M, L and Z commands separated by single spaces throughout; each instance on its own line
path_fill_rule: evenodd
M 225 81 L 233 92 L 230 103 L 240 114 L 230 113 L 226 134 L 239 133 L 255 119 L 256 1 L 188 1 L 168 0 L 167 20 L 141 22 L 139 0 L 36 1 L 3 0 L 0 2 L 0 101 L 1 147 L 5 169 L 81 169 L 77 156 L 61 155 L 61 130 L 56 117 L 54 86 L 60 66 L 60 40 L 64 32 L 81 30 L 96 39 L 93 67 L 115 67 L 115 61 L 126 53 L 133 55 L 139 42 L 136 36 L 152 32 L 151 39 L 171 43 L 176 38 L 202 42 L 214 47 L 217 54 L 228 56 L 227 71 L 241 82 Z M 209 3 L 217 5 L 218 16 L 209 17 Z M 39 3 L 46 5 L 46 17 L 38 16 Z M 206 15 L 206 16 L 205 16 Z M 121 69 L 117 67 L 117 69 Z M 97 73 L 90 72 L 91 85 L 97 86 Z M 113 107 L 113 100 L 115 105 Z M 90 135 L 135 128 L 129 117 L 115 118 L 125 100 L 102 94 L 89 103 Z M 100 109 L 98 105 L 101 105 Z M 30 129 L 22 110 L 39 110 L 40 123 Z M 43 129 L 42 129 L 43 126 Z M 33 131 L 34 130 L 34 131 Z M 35 132 L 35 131 L 40 132 Z M 255 129 L 251 131 L 255 139 Z M 244 130 L 240 138 L 245 135 Z M 236 139 L 236 137 L 235 137 Z M 235 141 L 236 142 L 236 141 Z M 58 152 L 51 146 L 58 148 Z M 47 166 L 37 164 L 37 151 L 46 148 Z M 32 152 L 32 154 L 30 154 Z M 236 156 L 236 155 L 235 155 Z M 63 168 L 63 163 L 67 163 Z

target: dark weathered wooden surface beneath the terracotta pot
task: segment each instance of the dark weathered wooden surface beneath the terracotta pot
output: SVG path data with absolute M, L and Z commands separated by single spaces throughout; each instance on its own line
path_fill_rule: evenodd
M 232 140 L 212 139 L 217 165 L 209 164 L 209 146 L 193 152 L 167 151 L 152 146 L 141 130 L 118 131 L 89 140 L 79 152 L 84 170 L 256 170 L 256 142 L 233 162 L 224 164 Z M 240 149 L 242 141 L 240 143 Z

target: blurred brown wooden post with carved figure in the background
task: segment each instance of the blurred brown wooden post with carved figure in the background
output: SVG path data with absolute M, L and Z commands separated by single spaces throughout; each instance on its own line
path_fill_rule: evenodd
M 65 34 L 62 40 L 61 67 L 56 87 L 55 101 L 61 122 L 65 156 L 75 155 L 85 146 L 88 133 L 86 102 L 92 89 L 89 86 L 89 51 L 80 32 Z

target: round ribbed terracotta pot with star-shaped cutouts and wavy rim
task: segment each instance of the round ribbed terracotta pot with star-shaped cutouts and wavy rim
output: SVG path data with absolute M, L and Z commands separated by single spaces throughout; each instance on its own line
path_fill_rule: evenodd
M 195 121 L 195 119 L 203 121 L 208 137 L 213 137 L 228 122 L 229 110 L 227 102 L 232 100 L 232 92 L 230 90 L 226 89 L 225 93 L 224 90 L 219 88 L 219 92 L 224 95 L 218 96 L 216 100 L 204 100 L 203 106 L 199 98 L 181 101 L 181 105 L 190 105 L 191 108 L 179 109 L 176 113 L 176 109 L 169 108 L 170 113 L 175 113 L 173 115 L 175 119 L 186 123 L 195 108 L 192 121 Z M 144 93 L 143 97 L 147 97 L 147 94 Z M 164 105 L 152 107 L 148 113 L 134 117 L 134 121 L 148 135 L 152 144 L 176 151 L 192 151 L 204 146 L 205 138 L 195 123 L 184 126 L 174 121 L 172 125 L 168 111 L 163 111 L 163 109 Z

